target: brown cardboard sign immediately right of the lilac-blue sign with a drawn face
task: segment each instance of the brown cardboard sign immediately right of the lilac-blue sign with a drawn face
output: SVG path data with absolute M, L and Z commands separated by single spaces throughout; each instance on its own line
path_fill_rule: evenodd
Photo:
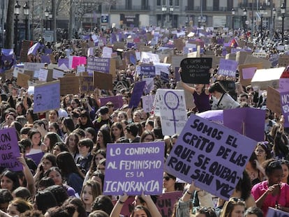
M 80 91 L 80 79 L 75 76 L 60 77 L 60 94 L 77 94 Z

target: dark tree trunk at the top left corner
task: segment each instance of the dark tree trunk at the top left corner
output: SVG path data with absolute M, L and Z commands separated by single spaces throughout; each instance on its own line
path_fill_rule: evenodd
M 14 38 L 14 6 L 15 0 L 8 1 L 8 10 L 6 17 L 6 36 L 5 43 L 3 45 L 6 49 L 12 49 L 13 46 L 13 38 Z

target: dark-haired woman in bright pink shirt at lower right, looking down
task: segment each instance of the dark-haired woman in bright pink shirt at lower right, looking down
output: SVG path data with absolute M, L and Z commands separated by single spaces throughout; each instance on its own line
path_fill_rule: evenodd
M 289 212 L 289 185 L 281 182 L 283 177 L 281 162 L 267 160 L 264 168 L 268 180 L 255 184 L 251 190 L 257 207 L 262 209 L 264 216 L 269 207 Z

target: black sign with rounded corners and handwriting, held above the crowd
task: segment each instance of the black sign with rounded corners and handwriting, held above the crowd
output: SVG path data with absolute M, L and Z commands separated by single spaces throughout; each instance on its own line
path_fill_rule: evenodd
M 181 80 L 189 84 L 209 84 L 212 58 L 186 58 L 181 61 Z

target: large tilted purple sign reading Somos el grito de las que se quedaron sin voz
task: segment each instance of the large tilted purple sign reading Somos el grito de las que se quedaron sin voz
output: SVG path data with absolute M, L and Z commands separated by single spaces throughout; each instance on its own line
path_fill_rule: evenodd
M 191 114 L 177 144 L 165 161 L 165 171 L 216 197 L 228 200 L 257 142 Z

